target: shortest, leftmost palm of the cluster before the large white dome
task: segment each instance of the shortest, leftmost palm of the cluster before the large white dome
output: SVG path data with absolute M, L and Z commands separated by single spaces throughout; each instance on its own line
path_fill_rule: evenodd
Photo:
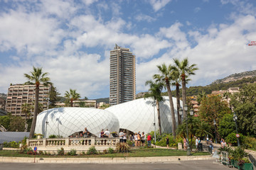
M 160 116 L 160 106 L 159 103 L 164 101 L 164 98 L 161 96 L 161 91 L 164 88 L 164 84 L 159 82 L 156 83 L 154 81 L 148 80 L 145 85 L 149 85 L 149 93 L 144 95 L 144 98 L 153 98 L 156 101 L 156 110 L 157 110 L 157 118 L 159 122 L 159 135 L 161 135 L 161 116 Z

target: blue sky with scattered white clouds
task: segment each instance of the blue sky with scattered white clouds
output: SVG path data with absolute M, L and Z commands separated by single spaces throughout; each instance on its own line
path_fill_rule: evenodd
M 256 69 L 256 47 L 247 46 L 256 40 L 254 0 L 0 0 L 0 23 L 2 93 L 36 66 L 62 95 L 109 97 L 115 43 L 137 57 L 137 93 L 173 58 L 198 65 L 188 86 Z

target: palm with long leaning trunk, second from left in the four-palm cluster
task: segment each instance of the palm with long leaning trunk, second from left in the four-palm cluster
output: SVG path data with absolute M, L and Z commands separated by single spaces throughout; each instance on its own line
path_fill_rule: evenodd
M 170 86 L 170 80 L 172 79 L 172 77 L 171 77 L 172 66 L 170 64 L 169 67 L 166 67 L 166 64 L 162 64 L 162 65 L 158 65 L 157 67 L 159 68 L 161 75 L 155 74 L 154 79 L 156 79 L 156 81 L 163 82 L 167 89 L 168 96 L 169 96 L 170 108 L 171 108 L 171 122 L 172 122 L 171 131 L 175 138 L 176 137 L 176 120 L 175 120 L 175 113 L 174 113 L 174 101 L 172 99 L 171 86 Z

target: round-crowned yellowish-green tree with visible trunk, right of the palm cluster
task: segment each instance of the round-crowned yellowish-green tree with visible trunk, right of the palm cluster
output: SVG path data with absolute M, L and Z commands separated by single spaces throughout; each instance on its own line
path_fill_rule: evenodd
M 216 122 L 216 135 L 218 139 L 220 139 L 220 135 L 218 134 L 218 127 L 220 120 L 222 120 L 223 116 L 227 113 L 231 113 L 230 108 L 228 108 L 228 103 L 225 101 L 221 101 L 221 96 L 210 96 L 203 98 L 200 105 L 200 110 L 198 115 L 201 120 L 206 121 L 212 127 L 212 131 L 214 130 L 213 120 Z

